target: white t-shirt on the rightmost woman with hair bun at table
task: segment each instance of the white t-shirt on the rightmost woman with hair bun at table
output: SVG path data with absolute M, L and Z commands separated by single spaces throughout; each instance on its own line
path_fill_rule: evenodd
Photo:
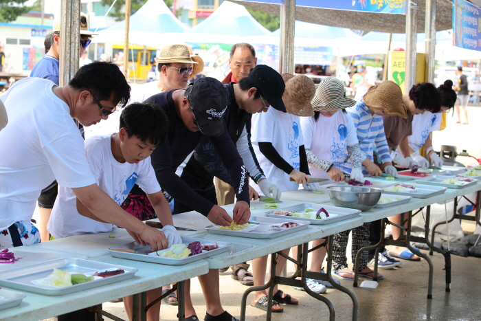
M 412 135 L 407 137 L 409 146 L 413 151 L 418 151 L 423 147 L 424 143 L 432 131 L 439 131 L 443 113 L 432 113 L 425 111 L 423 114 L 414 115 L 412 120 Z

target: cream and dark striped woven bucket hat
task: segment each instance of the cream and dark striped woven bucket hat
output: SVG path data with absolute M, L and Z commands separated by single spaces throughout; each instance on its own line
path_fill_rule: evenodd
M 338 111 L 354 106 L 356 101 L 346 97 L 341 80 L 328 77 L 317 86 L 312 104 L 314 111 Z

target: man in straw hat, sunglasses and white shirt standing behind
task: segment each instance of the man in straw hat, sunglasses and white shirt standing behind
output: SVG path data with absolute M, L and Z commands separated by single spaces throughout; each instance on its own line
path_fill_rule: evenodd
M 131 102 L 144 102 L 147 98 L 172 89 L 186 89 L 188 80 L 204 68 L 200 56 L 192 54 L 188 45 L 166 45 L 155 58 L 159 80 L 133 87 Z

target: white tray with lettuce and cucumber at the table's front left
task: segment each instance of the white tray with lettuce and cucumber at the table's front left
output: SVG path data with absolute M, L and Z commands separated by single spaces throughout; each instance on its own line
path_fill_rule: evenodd
M 50 287 L 43 285 L 36 285 L 32 280 L 39 278 L 46 278 L 54 268 L 61 269 L 69 273 L 89 273 L 89 272 L 103 272 L 111 269 L 123 269 L 124 273 L 115 276 L 107 276 L 99 280 L 80 283 L 77 285 L 70 285 L 69 287 Z M 63 260 L 50 261 L 31 267 L 22 267 L 21 269 L 12 269 L 7 272 L 2 272 L 0 276 L 0 285 L 11 287 L 12 289 L 34 292 L 46 296 L 61 296 L 64 294 L 71 294 L 93 287 L 100 287 L 101 285 L 108 285 L 122 280 L 133 278 L 137 269 L 133 267 L 124 267 L 121 265 L 113 265 L 108 263 L 94 262 L 82 260 L 80 258 L 64 258 Z

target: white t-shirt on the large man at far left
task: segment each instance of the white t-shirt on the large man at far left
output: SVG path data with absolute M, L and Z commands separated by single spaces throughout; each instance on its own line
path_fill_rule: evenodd
M 70 188 L 96 183 L 80 131 L 54 86 L 29 77 L 0 96 L 8 113 L 0 131 L 0 230 L 30 221 L 41 190 L 55 179 Z

